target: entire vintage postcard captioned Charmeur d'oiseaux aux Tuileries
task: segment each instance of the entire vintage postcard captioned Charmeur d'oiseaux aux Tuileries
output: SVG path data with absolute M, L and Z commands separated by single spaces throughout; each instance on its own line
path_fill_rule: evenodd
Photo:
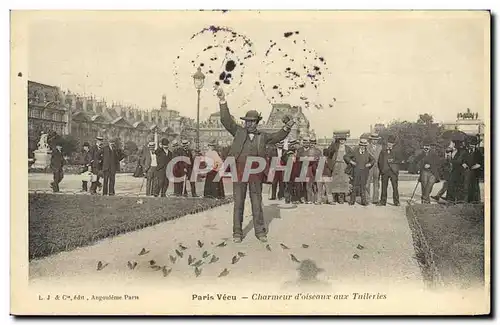
M 490 20 L 12 11 L 11 313 L 489 314 Z

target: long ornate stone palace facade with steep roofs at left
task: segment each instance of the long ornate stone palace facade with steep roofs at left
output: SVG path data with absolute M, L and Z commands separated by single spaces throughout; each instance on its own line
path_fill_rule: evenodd
M 139 147 L 158 137 L 170 140 L 183 135 L 193 137 L 193 119 L 167 108 L 163 95 L 159 109 L 137 107 L 98 100 L 63 92 L 55 86 L 28 81 L 28 138 L 29 151 L 36 149 L 41 131 L 72 135 L 79 140 L 94 142 L 96 136 L 119 138 L 122 143 L 135 142 Z

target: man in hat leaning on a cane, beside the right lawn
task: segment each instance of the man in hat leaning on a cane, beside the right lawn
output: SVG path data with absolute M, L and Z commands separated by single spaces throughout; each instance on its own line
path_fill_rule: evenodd
M 420 164 L 420 184 L 422 190 L 422 203 L 431 203 L 430 194 L 434 184 L 439 183 L 439 167 L 440 159 L 433 146 L 431 139 L 425 139 L 423 143 L 423 151 L 417 155 L 415 161 Z

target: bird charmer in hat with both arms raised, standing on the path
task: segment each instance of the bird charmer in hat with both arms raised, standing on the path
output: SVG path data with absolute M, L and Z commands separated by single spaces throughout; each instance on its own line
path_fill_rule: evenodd
M 262 173 L 253 174 L 249 179 L 243 179 L 245 166 L 248 158 L 260 157 L 265 160 L 266 146 L 276 144 L 286 138 L 290 133 L 294 121 L 285 118 L 283 128 L 275 133 L 265 133 L 257 129 L 257 124 L 262 119 L 260 114 L 251 110 L 241 119 L 245 121 L 244 126 L 238 125 L 229 113 L 226 98 L 222 88 L 217 91 L 217 97 L 220 101 L 220 119 L 226 130 L 234 136 L 229 157 L 234 157 L 236 161 L 236 173 L 238 179 L 233 184 L 234 214 L 233 214 L 233 240 L 240 243 L 243 239 L 243 211 L 245 207 L 245 197 L 247 188 L 250 192 L 250 201 L 252 203 L 253 224 L 255 235 L 261 242 L 267 241 L 267 229 L 264 222 L 264 213 L 262 211 Z M 252 163 L 256 168 L 258 163 Z M 247 172 L 248 173 L 248 172 Z M 245 173 L 246 174 L 246 173 Z M 234 180 L 233 180 L 234 181 Z

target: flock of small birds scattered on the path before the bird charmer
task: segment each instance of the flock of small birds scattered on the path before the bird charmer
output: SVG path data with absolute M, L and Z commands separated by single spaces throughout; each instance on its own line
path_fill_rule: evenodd
M 201 242 L 200 240 L 197 241 L 197 246 L 199 248 L 203 248 L 205 246 L 205 244 L 203 242 Z M 227 242 L 226 241 L 223 241 L 221 242 L 220 244 L 217 244 L 215 245 L 215 247 L 218 247 L 218 248 L 221 248 L 221 247 L 226 247 L 227 246 Z M 286 246 L 285 244 L 283 243 L 280 243 L 280 247 L 283 251 L 287 251 L 287 250 L 290 250 L 290 247 Z M 309 245 L 307 244 L 302 244 L 302 248 L 309 248 Z M 186 250 L 188 249 L 188 247 L 182 245 L 182 244 L 179 244 L 178 247 L 176 249 L 174 249 L 174 252 L 175 254 L 170 254 L 169 255 L 169 259 L 170 259 L 170 262 L 173 264 L 175 263 L 180 263 L 180 261 L 182 259 L 186 260 Z M 272 251 L 272 248 L 271 248 L 271 245 L 270 244 L 267 244 L 266 245 L 266 249 L 268 251 Z M 357 246 L 357 249 L 358 250 L 362 250 L 364 249 L 364 247 L 362 245 L 358 245 Z M 142 250 L 138 253 L 138 256 L 144 256 L 144 255 L 147 255 L 150 251 L 149 250 L 146 250 L 146 248 L 142 248 Z M 236 264 L 240 261 L 240 259 L 246 257 L 247 254 L 244 253 L 244 252 L 237 252 L 231 259 L 231 264 Z M 290 257 L 290 260 L 292 260 L 293 262 L 295 263 L 300 263 L 301 261 L 292 253 L 289 253 L 289 257 Z M 353 255 L 353 259 L 359 259 L 359 255 L 358 254 L 354 254 Z M 194 270 L 194 274 L 196 277 L 199 277 L 202 273 L 202 265 L 204 264 L 213 264 L 213 263 L 217 263 L 218 261 L 220 260 L 219 257 L 217 257 L 214 253 L 209 253 L 207 250 L 203 251 L 202 255 L 200 258 L 196 258 L 196 257 L 193 257 L 191 254 L 189 254 L 187 256 L 187 264 L 191 267 L 193 267 L 193 270 Z M 162 271 L 162 274 L 164 277 L 167 277 L 171 272 L 172 272 L 172 268 L 171 267 L 167 267 L 167 265 L 158 265 L 158 263 L 155 261 L 155 260 L 150 260 L 148 262 L 149 264 L 149 268 L 151 268 L 152 270 L 154 271 Z M 106 266 L 108 266 L 109 263 L 104 263 L 102 261 L 99 261 L 97 263 L 97 271 L 102 271 Z M 138 265 L 138 262 L 137 261 L 128 261 L 127 262 L 127 266 L 130 270 L 134 270 Z M 224 268 L 218 275 L 218 277 L 225 277 L 229 275 L 229 270 L 227 268 Z

